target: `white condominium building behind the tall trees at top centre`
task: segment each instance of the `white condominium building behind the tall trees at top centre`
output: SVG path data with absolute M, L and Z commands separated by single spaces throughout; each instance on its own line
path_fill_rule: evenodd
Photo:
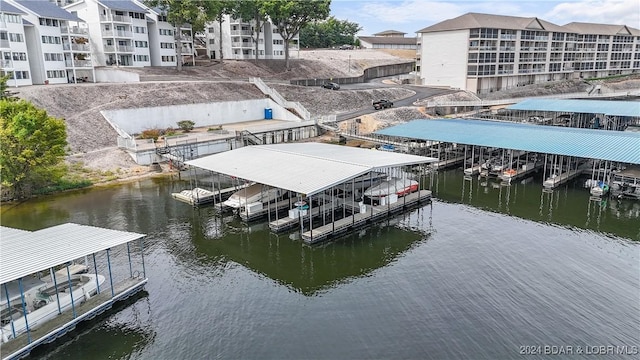
M 255 59 L 255 21 L 224 16 L 222 21 L 222 54 L 225 59 L 251 60 Z M 205 28 L 207 54 L 211 59 L 220 58 L 220 23 L 208 23 Z M 289 55 L 299 50 L 299 36 L 296 35 L 289 43 Z M 275 25 L 265 22 L 258 40 L 259 59 L 284 59 L 284 39 L 278 33 Z

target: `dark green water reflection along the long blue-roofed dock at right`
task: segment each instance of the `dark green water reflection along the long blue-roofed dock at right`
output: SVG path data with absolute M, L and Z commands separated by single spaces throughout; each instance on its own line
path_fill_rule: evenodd
M 529 177 L 505 185 L 497 179 L 465 177 L 460 169 L 427 179 L 438 199 L 539 222 L 640 240 L 640 203 L 630 199 L 592 199 L 582 180 L 543 191 L 541 179 Z

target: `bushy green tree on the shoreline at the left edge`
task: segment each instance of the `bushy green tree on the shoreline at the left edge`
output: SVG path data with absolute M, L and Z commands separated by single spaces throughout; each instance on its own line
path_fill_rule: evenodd
M 25 100 L 0 100 L 0 183 L 15 198 L 62 178 L 66 146 L 63 120 Z

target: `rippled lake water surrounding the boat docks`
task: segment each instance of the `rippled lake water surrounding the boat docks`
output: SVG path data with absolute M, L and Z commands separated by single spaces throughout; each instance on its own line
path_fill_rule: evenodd
M 313 247 L 180 203 L 189 184 L 166 179 L 3 206 L 4 226 L 148 234 L 146 291 L 31 358 L 637 354 L 640 202 L 461 170 L 426 182 L 431 205 Z

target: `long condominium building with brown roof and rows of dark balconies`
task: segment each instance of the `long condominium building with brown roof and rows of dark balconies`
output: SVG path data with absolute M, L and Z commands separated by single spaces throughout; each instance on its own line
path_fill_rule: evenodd
M 640 30 L 468 13 L 418 31 L 422 84 L 488 93 L 640 71 Z

